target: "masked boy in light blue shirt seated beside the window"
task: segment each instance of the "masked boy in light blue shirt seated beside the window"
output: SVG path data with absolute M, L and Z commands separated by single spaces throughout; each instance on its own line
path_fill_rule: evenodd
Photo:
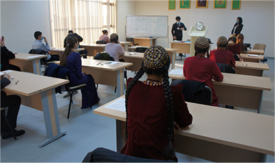
M 46 62 L 51 62 L 54 60 L 59 60 L 59 55 L 51 55 L 50 46 L 47 43 L 47 38 L 42 36 L 42 32 L 36 31 L 34 32 L 34 43 L 32 44 L 32 49 L 39 49 L 41 51 L 45 51 L 47 54 Z M 42 40 L 45 40 L 46 45 L 43 44 Z

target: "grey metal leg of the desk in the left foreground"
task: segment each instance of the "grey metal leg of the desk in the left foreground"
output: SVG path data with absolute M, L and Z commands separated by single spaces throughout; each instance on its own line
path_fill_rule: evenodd
M 61 133 L 55 89 L 48 90 L 47 92 L 41 92 L 41 100 L 48 139 L 41 143 L 39 147 L 44 147 L 61 136 L 65 136 L 66 132 Z

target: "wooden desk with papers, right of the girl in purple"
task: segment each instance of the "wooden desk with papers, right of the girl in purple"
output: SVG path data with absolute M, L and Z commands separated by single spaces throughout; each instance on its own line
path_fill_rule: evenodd
M 124 68 L 133 65 L 127 62 L 104 64 L 110 61 L 82 59 L 82 71 L 91 74 L 96 84 L 117 87 L 118 97 L 124 95 Z M 99 64 L 100 63 L 100 64 Z M 102 65 L 103 64 L 103 65 Z

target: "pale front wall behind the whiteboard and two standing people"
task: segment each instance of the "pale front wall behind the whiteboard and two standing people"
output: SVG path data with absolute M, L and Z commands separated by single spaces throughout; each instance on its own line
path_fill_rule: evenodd
M 196 1 L 191 1 L 190 9 L 179 9 L 179 0 L 176 1 L 176 10 L 168 10 L 167 1 L 135 1 L 135 15 L 167 15 L 169 34 L 168 39 L 159 39 L 159 45 L 167 47 L 172 41 L 170 29 L 175 23 L 175 17 L 181 16 L 181 21 L 186 25 L 187 32 L 184 32 L 184 40 L 190 38 L 187 33 L 192 25 L 201 21 L 208 25 L 206 37 L 217 42 L 219 36 L 229 37 L 236 17 L 243 18 L 242 34 L 245 42 L 252 46 L 255 43 L 267 45 L 265 54 L 274 58 L 274 1 L 241 1 L 241 10 L 231 10 L 232 1 L 227 1 L 226 9 L 214 9 L 214 1 L 208 1 L 208 8 L 196 8 Z M 120 11 L 118 11 L 120 12 Z M 122 29 L 124 24 L 118 24 Z M 215 48 L 216 45 L 212 46 Z

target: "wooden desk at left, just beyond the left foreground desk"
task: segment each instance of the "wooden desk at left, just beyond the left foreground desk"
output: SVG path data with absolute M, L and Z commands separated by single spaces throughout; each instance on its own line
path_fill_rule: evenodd
M 10 60 L 10 64 L 19 66 L 21 71 L 42 75 L 40 60 L 45 57 L 47 55 L 17 53 L 15 58 Z

